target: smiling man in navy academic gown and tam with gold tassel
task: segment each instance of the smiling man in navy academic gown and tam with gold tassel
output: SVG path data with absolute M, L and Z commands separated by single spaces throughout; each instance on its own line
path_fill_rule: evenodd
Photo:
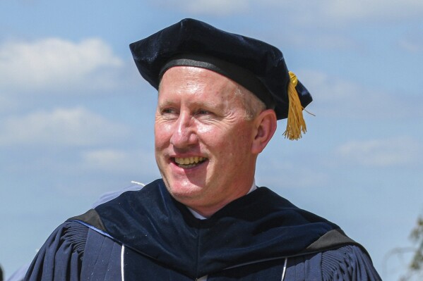
M 67 220 L 26 280 L 380 280 L 337 225 L 254 183 L 276 120 L 298 139 L 311 102 L 278 49 L 185 19 L 131 51 L 159 91 L 162 179 Z

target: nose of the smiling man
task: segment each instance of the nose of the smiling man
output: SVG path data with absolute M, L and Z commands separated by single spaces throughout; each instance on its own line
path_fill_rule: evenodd
M 170 143 L 177 148 L 184 148 L 196 142 L 197 135 L 191 117 L 189 114 L 181 113 L 177 122 L 174 124 Z

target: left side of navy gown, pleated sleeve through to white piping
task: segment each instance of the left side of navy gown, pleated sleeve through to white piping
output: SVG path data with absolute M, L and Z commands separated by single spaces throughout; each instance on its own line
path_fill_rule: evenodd
M 121 245 L 75 221 L 58 227 L 44 243 L 25 280 L 121 279 Z

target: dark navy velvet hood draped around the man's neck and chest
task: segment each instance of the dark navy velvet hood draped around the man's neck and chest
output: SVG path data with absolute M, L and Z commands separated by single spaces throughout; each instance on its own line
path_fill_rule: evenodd
M 162 180 L 125 192 L 95 211 L 118 242 L 191 277 L 311 252 L 307 247 L 339 228 L 266 187 L 232 201 L 206 220 L 194 218 L 175 201 Z M 314 246 L 312 251 L 324 247 Z

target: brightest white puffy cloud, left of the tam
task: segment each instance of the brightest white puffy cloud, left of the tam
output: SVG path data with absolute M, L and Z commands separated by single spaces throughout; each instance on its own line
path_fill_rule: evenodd
M 101 39 L 5 42 L 0 45 L 0 90 L 107 89 L 114 85 L 111 73 L 122 64 Z

